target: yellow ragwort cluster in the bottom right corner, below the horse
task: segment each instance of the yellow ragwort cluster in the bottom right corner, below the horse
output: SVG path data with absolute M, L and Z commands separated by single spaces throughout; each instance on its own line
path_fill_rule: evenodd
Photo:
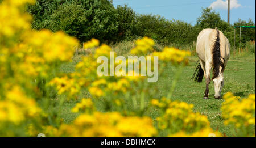
M 241 99 L 228 92 L 223 98 L 225 102 L 221 111 L 224 124 L 234 125 L 240 136 L 255 136 L 255 94 Z

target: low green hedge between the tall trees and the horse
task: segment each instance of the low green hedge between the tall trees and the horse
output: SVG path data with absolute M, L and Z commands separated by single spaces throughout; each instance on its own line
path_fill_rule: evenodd
M 159 44 L 187 44 L 195 40 L 193 26 L 180 20 L 166 20 L 159 15 L 138 15 L 137 35 L 148 36 Z

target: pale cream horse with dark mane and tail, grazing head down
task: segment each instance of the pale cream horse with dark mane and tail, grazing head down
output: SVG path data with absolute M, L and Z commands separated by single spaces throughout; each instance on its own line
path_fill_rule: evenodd
M 197 36 L 196 53 L 200 63 L 197 65 L 192 79 L 202 82 L 205 77 L 206 88 L 204 99 L 209 99 L 210 70 L 212 70 L 215 99 L 220 99 L 224 86 L 223 72 L 229 60 L 230 44 L 226 36 L 215 29 L 203 29 Z M 198 61 L 197 61 L 198 62 Z

